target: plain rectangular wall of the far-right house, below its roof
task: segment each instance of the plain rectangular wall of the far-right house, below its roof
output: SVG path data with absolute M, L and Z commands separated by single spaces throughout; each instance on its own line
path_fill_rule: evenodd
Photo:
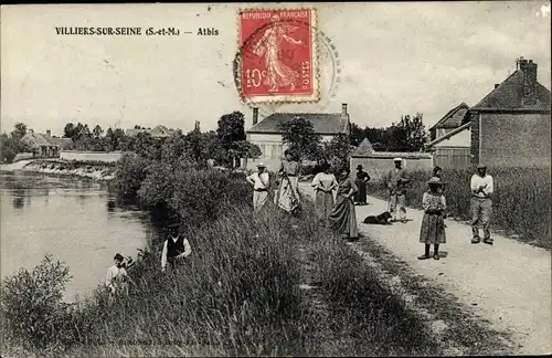
M 550 167 L 550 115 L 482 113 L 480 120 L 481 162 Z

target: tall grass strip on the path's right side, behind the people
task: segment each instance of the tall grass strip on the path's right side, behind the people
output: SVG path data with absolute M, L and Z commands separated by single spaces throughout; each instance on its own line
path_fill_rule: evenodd
M 519 240 L 541 248 L 551 249 L 550 168 L 489 168 L 495 179 L 492 227 L 507 234 L 516 234 Z M 445 197 L 450 217 L 470 220 L 469 182 L 473 170 L 447 169 L 443 179 L 447 182 Z M 413 182 L 406 201 L 411 208 L 422 208 L 422 196 L 427 190 L 429 171 L 411 172 Z M 371 181 L 368 192 L 378 198 L 388 199 L 383 182 Z

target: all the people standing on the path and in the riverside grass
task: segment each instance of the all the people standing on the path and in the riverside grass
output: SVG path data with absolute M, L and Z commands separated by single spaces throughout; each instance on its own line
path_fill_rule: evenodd
M 411 182 L 403 168 L 401 158 L 393 159 L 394 168 L 384 177 L 389 190 L 389 213 L 392 221 L 406 221 L 406 189 Z M 315 211 L 320 223 L 330 228 L 343 239 L 358 240 L 355 204 L 367 204 L 367 182 L 370 176 L 363 171 L 362 166 L 357 167 L 354 179 L 347 167 L 337 172 L 331 172 L 331 166 L 325 162 L 320 171 L 312 178 L 311 187 L 315 190 Z M 274 191 L 274 203 L 284 211 L 295 214 L 300 209 L 298 179 L 300 172 L 299 160 L 291 151 L 285 151 L 285 159 L 278 170 L 277 189 Z M 424 244 L 424 254 L 420 260 L 431 259 L 431 245 L 434 245 L 433 259 L 439 260 L 439 245 L 446 243 L 445 219 L 447 204 L 445 199 L 445 181 L 442 179 L 442 168 L 435 167 L 432 178 L 427 181 L 428 190 L 422 197 L 424 217 L 420 231 L 420 242 Z M 263 164 L 257 165 L 257 171 L 246 178 L 253 185 L 254 212 L 262 210 L 268 202 L 270 178 Z M 470 211 L 471 211 L 471 243 L 481 242 L 479 227 L 482 227 L 482 242 L 492 245 L 490 236 L 490 219 L 492 214 L 493 179 L 487 173 L 487 167 L 479 165 L 477 173 L 470 180 Z M 177 268 L 185 262 L 192 249 L 188 239 L 179 231 L 179 225 L 169 227 L 169 235 L 163 243 L 161 254 L 161 271 Z M 115 302 L 120 294 L 128 294 L 128 284 L 135 285 L 127 273 L 132 266 L 132 259 L 117 253 L 114 265 L 109 267 L 105 285 L 109 292 L 109 303 Z

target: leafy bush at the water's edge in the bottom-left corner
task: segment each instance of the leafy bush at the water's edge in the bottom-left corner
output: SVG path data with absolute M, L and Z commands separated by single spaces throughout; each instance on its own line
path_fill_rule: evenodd
M 33 350 L 56 350 L 73 339 L 63 303 L 68 267 L 47 255 L 32 272 L 21 268 L 2 282 L 0 296 L 6 343 Z

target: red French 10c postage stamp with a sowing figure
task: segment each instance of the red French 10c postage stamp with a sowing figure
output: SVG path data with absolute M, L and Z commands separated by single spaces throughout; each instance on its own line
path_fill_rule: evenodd
M 240 94 L 254 102 L 319 99 L 316 11 L 240 12 Z

